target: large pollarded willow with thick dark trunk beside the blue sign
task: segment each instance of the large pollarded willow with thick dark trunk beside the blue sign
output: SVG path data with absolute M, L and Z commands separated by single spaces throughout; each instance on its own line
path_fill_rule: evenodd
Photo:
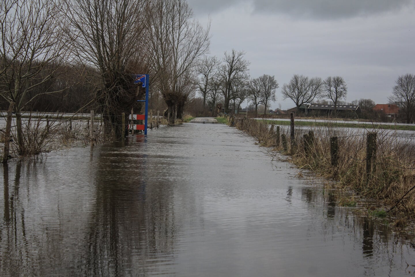
M 103 114 L 105 133 L 124 134 L 121 113 L 128 113 L 144 90 L 133 74 L 148 72 L 145 0 L 64 0 L 71 22 L 66 30 L 78 63 L 95 69 L 90 85 Z

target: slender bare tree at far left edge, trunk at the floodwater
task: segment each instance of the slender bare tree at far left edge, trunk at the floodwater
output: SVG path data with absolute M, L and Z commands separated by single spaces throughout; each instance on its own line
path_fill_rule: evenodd
M 57 71 L 67 59 L 68 38 L 62 34 L 65 20 L 61 3 L 50 0 L 3 0 L 0 3 L 0 95 L 15 103 L 17 151 L 31 155 L 24 147 L 22 109 L 51 90 Z M 43 86 L 39 93 L 33 93 Z M 36 143 L 36 142 L 34 142 Z

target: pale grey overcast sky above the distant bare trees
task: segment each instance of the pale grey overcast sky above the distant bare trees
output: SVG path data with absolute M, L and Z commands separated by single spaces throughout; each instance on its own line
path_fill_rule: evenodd
M 415 0 L 188 0 L 212 20 L 210 54 L 244 50 L 251 77 L 274 75 L 271 108 L 291 108 L 281 86 L 293 74 L 342 76 L 347 101 L 387 103 L 398 76 L 415 74 Z M 245 104 L 246 105 L 246 104 Z

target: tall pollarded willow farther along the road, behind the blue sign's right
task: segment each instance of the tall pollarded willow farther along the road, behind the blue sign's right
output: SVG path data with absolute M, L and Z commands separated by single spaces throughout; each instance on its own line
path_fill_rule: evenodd
M 145 40 L 154 78 L 167 104 L 168 122 L 173 125 L 176 111 L 182 110 L 183 93 L 193 87 L 193 76 L 198 60 L 209 49 L 209 29 L 193 17 L 193 11 L 185 0 L 154 0 L 147 2 Z M 192 77 L 193 78 L 193 77 Z

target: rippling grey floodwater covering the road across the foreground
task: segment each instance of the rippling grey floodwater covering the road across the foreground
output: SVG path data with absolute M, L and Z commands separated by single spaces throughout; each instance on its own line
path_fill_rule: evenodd
M 222 124 L 0 167 L 1 276 L 412 276 L 415 245 Z

